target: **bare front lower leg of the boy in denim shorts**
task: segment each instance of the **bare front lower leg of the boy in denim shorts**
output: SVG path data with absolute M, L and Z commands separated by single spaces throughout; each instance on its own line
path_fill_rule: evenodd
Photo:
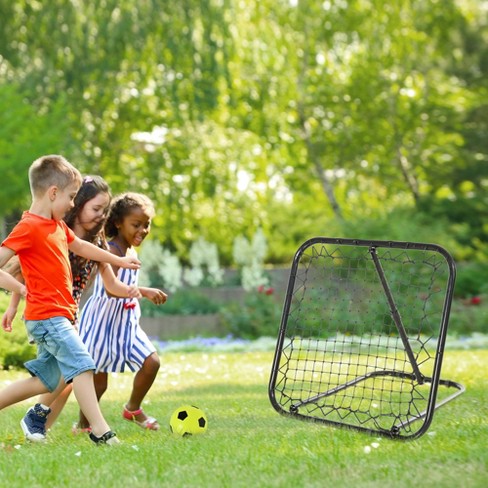
M 85 371 L 73 379 L 73 391 L 81 411 L 88 420 L 95 436 L 100 437 L 110 430 L 107 421 L 102 415 L 98 404 L 95 386 L 93 383 L 93 372 Z

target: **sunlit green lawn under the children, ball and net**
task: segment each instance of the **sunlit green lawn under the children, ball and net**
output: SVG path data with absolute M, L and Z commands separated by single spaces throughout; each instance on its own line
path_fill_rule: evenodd
M 467 391 L 440 408 L 427 434 L 392 441 L 283 417 L 267 384 L 272 352 L 165 352 L 144 408 L 162 424 L 145 432 L 121 405 L 132 375 L 111 377 L 102 409 L 123 444 L 96 447 L 70 427 L 70 399 L 46 445 L 25 443 L 19 421 L 32 402 L 0 415 L 3 486 L 129 487 L 484 487 L 488 475 L 488 351 L 448 350 L 442 377 Z M 1 372 L 0 387 L 23 372 Z M 172 411 L 185 403 L 207 413 L 202 436 L 175 438 Z

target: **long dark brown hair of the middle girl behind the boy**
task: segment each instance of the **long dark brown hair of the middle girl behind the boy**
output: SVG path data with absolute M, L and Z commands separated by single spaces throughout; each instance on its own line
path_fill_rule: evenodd
M 69 228 L 74 228 L 76 217 L 82 212 L 84 206 L 99 193 L 106 193 L 109 198 L 112 198 L 110 187 L 101 176 L 85 176 L 81 183 L 80 189 L 75 196 L 73 208 L 65 215 L 63 219 Z M 83 236 L 83 239 L 106 248 L 105 233 L 103 230 L 104 224 L 105 222 L 102 222 L 94 227 L 87 235 Z M 71 262 L 73 276 L 78 276 L 85 264 L 86 259 L 81 259 L 81 257 L 80 259 L 73 260 Z

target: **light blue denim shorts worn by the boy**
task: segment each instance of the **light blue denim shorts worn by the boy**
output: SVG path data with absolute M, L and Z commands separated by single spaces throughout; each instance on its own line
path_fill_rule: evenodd
M 26 320 L 27 334 L 37 345 L 37 357 L 25 363 L 49 391 L 59 384 L 61 376 L 66 383 L 79 374 L 95 370 L 95 363 L 78 332 L 65 317 L 45 320 Z

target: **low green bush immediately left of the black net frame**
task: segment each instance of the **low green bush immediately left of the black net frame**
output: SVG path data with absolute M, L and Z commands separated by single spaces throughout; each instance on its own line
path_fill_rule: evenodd
M 281 305 L 272 288 L 248 292 L 244 303 L 231 303 L 221 310 L 222 325 L 235 337 L 257 339 L 276 337 L 281 321 Z

